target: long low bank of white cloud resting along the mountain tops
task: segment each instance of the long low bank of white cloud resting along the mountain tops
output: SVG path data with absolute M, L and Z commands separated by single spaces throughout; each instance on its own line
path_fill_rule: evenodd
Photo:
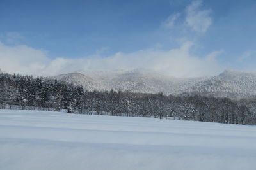
M 53 76 L 80 69 L 148 68 L 177 77 L 211 76 L 223 69 L 212 52 L 205 57 L 191 55 L 193 43 L 186 41 L 179 48 L 152 48 L 133 53 L 118 52 L 113 56 L 81 59 L 49 59 L 47 53 L 28 46 L 6 46 L 0 43 L 0 68 L 8 73 Z

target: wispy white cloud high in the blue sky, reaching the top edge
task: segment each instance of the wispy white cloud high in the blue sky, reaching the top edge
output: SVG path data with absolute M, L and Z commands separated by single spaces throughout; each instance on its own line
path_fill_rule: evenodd
M 193 29 L 193 31 L 204 33 L 212 24 L 212 18 L 209 16 L 211 10 L 200 10 L 202 1 L 193 1 L 186 8 L 185 24 Z

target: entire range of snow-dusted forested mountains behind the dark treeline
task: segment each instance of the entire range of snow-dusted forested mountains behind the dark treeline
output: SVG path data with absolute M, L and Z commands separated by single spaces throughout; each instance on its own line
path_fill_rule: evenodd
M 128 90 L 131 92 L 164 94 L 201 94 L 205 96 L 256 96 L 256 73 L 225 70 L 218 76 L 175 78 L 148 69 L 118 69 L 113 71 L 79 71 L 53 77 L 86 90 Z

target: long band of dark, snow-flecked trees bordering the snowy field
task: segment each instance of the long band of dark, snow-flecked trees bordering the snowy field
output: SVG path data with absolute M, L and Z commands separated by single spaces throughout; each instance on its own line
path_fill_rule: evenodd
M 165 96 L 131 92 L 84 91 L 64 81 L 0 73 L 0 108 L 17 105 L 66 109 L 68 113 L 178 118 L 229 124 L 256 124 L 256 99 Z

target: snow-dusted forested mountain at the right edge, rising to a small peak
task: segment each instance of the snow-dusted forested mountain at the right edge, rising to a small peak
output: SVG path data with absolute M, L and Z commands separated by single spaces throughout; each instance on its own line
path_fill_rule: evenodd
M 195 83 L 185 92 L 239 99 L 256 96 L 256 73 L 225 70 L 218 76 Z

